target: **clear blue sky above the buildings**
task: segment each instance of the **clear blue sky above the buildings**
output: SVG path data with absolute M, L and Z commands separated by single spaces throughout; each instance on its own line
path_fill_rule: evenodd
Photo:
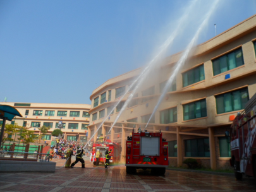
M 199 1 L 168 54 L 185 49 L 210 1 Z M 109 78 L 152 59 L 190 1 L 0 0 L 0 101 L 90 104 Z M 256 14 L 222 0 L 198 44 Z

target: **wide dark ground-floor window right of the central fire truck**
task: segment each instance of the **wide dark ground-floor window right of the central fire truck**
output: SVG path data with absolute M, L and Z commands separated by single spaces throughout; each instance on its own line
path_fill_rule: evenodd
M 209 138 L 185 140 L 185 157 L 210 157 Z

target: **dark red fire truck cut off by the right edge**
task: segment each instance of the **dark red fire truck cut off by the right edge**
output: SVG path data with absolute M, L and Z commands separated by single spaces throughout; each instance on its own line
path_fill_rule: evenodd
M 226 136 L 229 132 L 226 131 Z M 231 125 L 231 159 L 236 179 L 243 174 L 256 178 L 256 94 L 248 100 L 245 110 L 238 113 Z

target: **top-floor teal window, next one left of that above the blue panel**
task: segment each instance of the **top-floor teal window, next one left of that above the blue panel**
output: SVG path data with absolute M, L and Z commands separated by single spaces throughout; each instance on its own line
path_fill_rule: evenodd
M 182 74 L 183 87 L 204 80 L 204 64 Z

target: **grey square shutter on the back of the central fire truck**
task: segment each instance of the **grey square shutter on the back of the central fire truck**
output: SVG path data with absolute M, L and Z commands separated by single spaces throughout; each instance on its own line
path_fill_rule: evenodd
M 140 155 L 159 156 L 159 137 L 142 136 L 140 140 Z

